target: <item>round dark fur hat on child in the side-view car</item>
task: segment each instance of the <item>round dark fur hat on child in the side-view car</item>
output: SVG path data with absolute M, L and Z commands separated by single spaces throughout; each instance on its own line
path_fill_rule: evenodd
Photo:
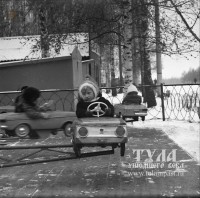
M 23 92 L 23 98 L 27 103 L 33 103 L 40 97 L 40 91 L 35 87 L 27 87 Z

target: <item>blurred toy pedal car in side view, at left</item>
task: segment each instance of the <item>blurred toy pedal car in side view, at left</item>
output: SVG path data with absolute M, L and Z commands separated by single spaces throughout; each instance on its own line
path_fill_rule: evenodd
M 30 119 L 25 113 L 0 114 L 1 133 L 24 138 L 35 131 L 41 137 L 44 132 L 50 134 L 62 129 L 66 136 L 70 136 L 71 124 L 76 119 L 75 112 L 48 111 L 48 114 L 48 119 Z

